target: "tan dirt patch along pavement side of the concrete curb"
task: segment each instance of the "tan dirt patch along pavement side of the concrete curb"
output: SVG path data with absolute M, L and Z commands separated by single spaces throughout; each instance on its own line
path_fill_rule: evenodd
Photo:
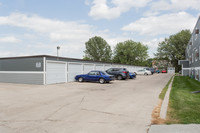
M 162 106 L 162 102 L 163 100 L 159 100 L 158 105 L 154 108 L 153 112 L 152 112 L 152 120 L 151 120 L 151 124 L 164 124 L 165 120 L 160 118 L 160 110 L 161 110 L 161 106 Z

